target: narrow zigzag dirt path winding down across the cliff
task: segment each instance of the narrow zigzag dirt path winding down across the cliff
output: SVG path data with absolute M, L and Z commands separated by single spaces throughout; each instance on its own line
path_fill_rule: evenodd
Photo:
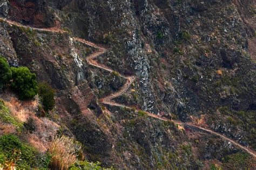
M 38 30 L 38 31 L 49 31 L 49 32 L 59 32 L 59 33 L 68 32 L 68 31 L 61 30 L 58 27 L 53 27 L 53 28 L 33 28 L 33 27 L 30 27 L 30 26 L 22 25 L 20 23 L 14 22 L 14 21 L 6 20 L 6 19 L 1 18 L 1 17 L 0 17 L 0 19 L 3 22 L 6 22 L 6 23 L 8 23 L 10 25 L 21 26 L 23 28 L 29 28 L 29 29 Z M 92 47 L 95 47 L 96 49 L 98 49 L 96 52 L 92 53 L 91 55 L 89 55 L 86 58 L 86 62 L 89 65 L 98 67 L 99 69 L 103 69 L 103 70 L 106 70 L 106 71 L 109 71 L 109 72 L 113 72 L 114 71 L 114 70 L 110 69 L 109 67 L 107 67 L 105 65 L 102 65 L 102 64 L 99 64 L 96 60 L 94 60 L 98 56 L 103 55 L 105 52 L 107 52 L 107 49 L 105 49 L 103 46 L 100 46 L 100 45 L 97 45 L 95 43 L 89 42 L 89 41 L 87 41 L 85 39 L 82 39 L 82 38 L 73 37 L 73 39 L 76 40 L 77 42 L 84 43 L 86 45 L 89 45 L 89 46 L 92 46 Z M 120 76 L 126 79 L 126 83 L 124 84 L 124 86 L 119 91 L 117 91 L 116 93 L 110 94 L 110 96 L 102 98 L 99 101 L 100 101 L 100 103 L 103 103 L 103 104 L 106 104 L 106 105 L 118 106 L 118 107 L 126 107 L 126 108 L 133 109 L 133 108 L 131 108 L 129 106 L 118 104 L 118 103 L 115 103 L 114 101 L 112 101 L 113 98 L 116 98 L 116 97 L 121 96 L 122 94 L 124 94 L 130 88 L 131 84 L 133 83 L 133 81 L 136 78 L 134 76 L 127 77 L 127 76 L 124 76 L 122 74 L 120 74 Z M 136 110 L 136 112 L 138 112 L 138 110 Z M 156 119 L 159 119 L 159 120 L 163 120 L 163 121 L 173 121 L 174 124 L 177 124 L 177 125 L 184 125 L 184 126 L 188 126 L 188 127 L 194 127 L 194 128 L 197 128 L 197 129 L 199 129 L 201 131 L 205 131 L 207 133 L 211 133 L 211 134 L 217 135 L 218 137 L 231 142 L 234 146 L 237 146 L 237 147 L 243 149 L 245 152 L 251 154 L 252 157 L 256 158 L 256 152 L 255 151 L 253 151 L 250 148 L 247 148 L 245 146 L 242 146 L 242 145 L 238 144 L 238 142 L 236 142 L 236 141 L 234 141 L 234 140 L 232 140 L 230 138 L 227 138 L 227 137 L 225 137 L 224 135 L 222 135 L 220 133 L 214 132 L 212 130 L 208 130 L 208 129 L 204 128 L 204 127 L 195 125 L 193 123 L 181 123 L 179 121 L 169 120 L 167 118 L 160 117 L 159 115 L 156 115 L 156 114 L 153 114 L 153 113 L 149 113 L 149 112 L 145 112 L 145 113 L 147 115 L 149 115 L 149 117 L 153 117 L 153 118 L 156 118 Z

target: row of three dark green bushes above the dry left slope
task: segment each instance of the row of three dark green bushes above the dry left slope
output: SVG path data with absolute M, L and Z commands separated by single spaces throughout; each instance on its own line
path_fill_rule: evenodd
M 36 74 L 31 73 L 28 67 L 10 67 L 6 59 L 0 57 L 0 91 L 7 83 L 11 83 L 20 99 L 32 99 L 39 93 L 46 112 L 55 105 L 55 90 L 51 86 L 47 83 L 37 85 Z

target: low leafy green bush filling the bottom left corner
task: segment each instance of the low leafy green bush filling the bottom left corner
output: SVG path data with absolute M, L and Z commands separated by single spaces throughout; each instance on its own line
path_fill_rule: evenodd
M 0 137 L 0 168 L 30 169 L 36 165 L 36 151 L 21 142 L 15 135 Z

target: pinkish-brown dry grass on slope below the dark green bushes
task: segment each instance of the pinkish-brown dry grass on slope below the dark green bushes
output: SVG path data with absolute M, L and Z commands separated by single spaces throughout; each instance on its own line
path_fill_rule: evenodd
M 45 152 L 51 146 L 59 126 L 48 118 L 36 117 L 36 110 L 38 108 L 39 99 L 21 101 L 9 93 L 0 94 L 0 98 L 4 99 L 5 105 L 9 108 L 10 114 L 15 117 L 19 122 L 25 123 L 31 118 L 33 125 L 36 127 L 35 131 L 26 133 L 23 137 L 33 147 L 37 148 L 40 152 Z M 0 134 L 17 133 L 15 127 L 12 125 L 0 123 Z

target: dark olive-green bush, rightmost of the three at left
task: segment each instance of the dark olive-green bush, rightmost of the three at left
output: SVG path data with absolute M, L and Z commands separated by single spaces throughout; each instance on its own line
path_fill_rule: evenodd
M 44 110 L 46 112 L 52 110 L 55 105 L 55 90 L 52 89 L 47 83 L 40 83 L 39 85 L 39 96 L 44 105 Z

